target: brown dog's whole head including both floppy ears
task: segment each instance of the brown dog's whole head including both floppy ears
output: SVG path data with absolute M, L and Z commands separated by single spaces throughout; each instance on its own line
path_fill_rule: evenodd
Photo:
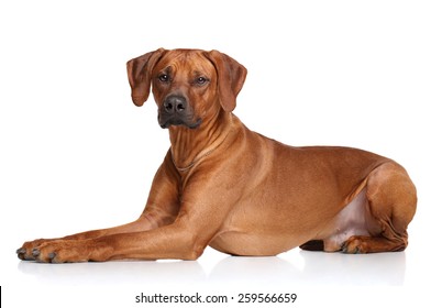
M 198 128 L 236 106 L 247 70 L 218 51 L 157 51 L 128 62 L 132 100 L 142 106 L 153 88 L 162 128 Z

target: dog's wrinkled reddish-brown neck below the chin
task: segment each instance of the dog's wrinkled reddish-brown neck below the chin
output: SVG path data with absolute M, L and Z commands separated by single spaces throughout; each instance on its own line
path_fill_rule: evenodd
M 197 129 L 169 127 L 170 153 L 177 170 L 189 170 L 216 151 L 231 131 L 232 117 L 223 111 Z

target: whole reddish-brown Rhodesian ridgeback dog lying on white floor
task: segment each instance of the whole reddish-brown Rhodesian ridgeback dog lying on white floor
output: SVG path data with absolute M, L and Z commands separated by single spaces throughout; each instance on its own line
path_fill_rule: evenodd
M 196 260 L 209 245 L 268 256 L 300 246 L 402 251 L 417 194 L 396 162 L 362 150 L 294 147 L 232 111 L 246 69 L 218 51 L 157 50 L 128 62 L 132 100 L 150 89 L 170 148 L 131 223 L 25 242 L 21 260 Z M 148 145 L 150 147 L 150 145 Z

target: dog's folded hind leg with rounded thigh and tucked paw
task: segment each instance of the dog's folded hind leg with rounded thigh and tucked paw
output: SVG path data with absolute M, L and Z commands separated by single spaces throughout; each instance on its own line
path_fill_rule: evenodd
M 394 162 L 374 169 L 367 180 L 366 199 L 367 223 L 377 226 L 378 232 L 371 230 L 369 235 L 352 235 L 341 250 L 344 253 L 404 251 L 408 244 L 407 226 L 417 205 L 416 188 L 407 172 Z

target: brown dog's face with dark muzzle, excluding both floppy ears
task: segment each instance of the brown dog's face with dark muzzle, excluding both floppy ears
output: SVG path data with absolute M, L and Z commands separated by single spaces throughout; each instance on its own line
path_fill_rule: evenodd
M 153 68 L 153 95 L 162 128 L 196 129 L 217 106 L 216 68 L 201 52 L 168 52 Z

